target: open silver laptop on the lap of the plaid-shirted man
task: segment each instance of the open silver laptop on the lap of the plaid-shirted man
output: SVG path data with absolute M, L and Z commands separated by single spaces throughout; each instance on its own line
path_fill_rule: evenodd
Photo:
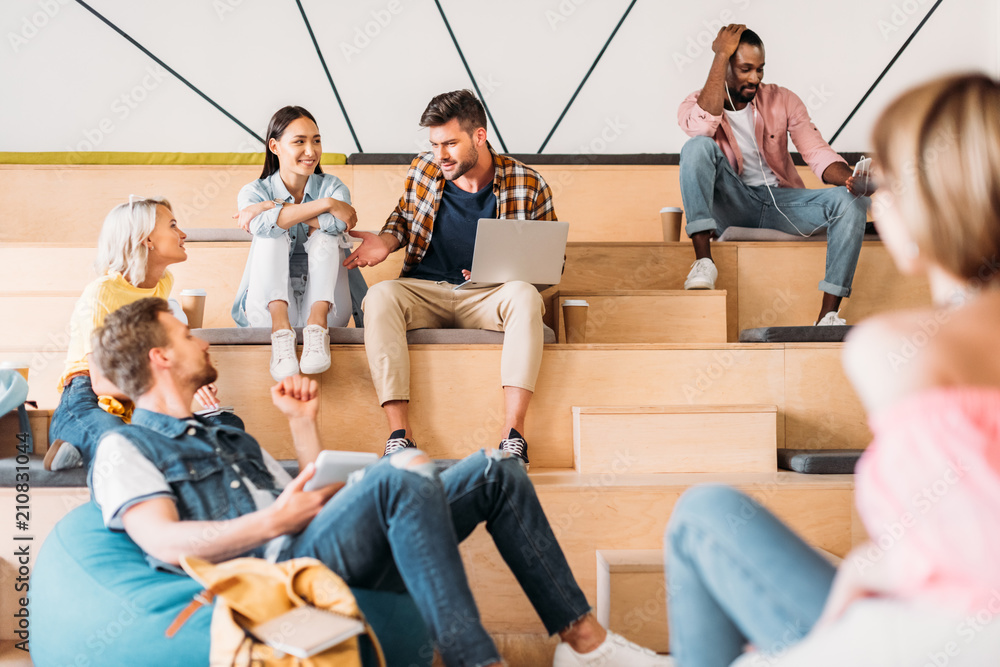
M 523 280 L 539 290 L 562 277 L 569 223 L 483 218 L 476 229 L 471 278 L 455 289 Z

